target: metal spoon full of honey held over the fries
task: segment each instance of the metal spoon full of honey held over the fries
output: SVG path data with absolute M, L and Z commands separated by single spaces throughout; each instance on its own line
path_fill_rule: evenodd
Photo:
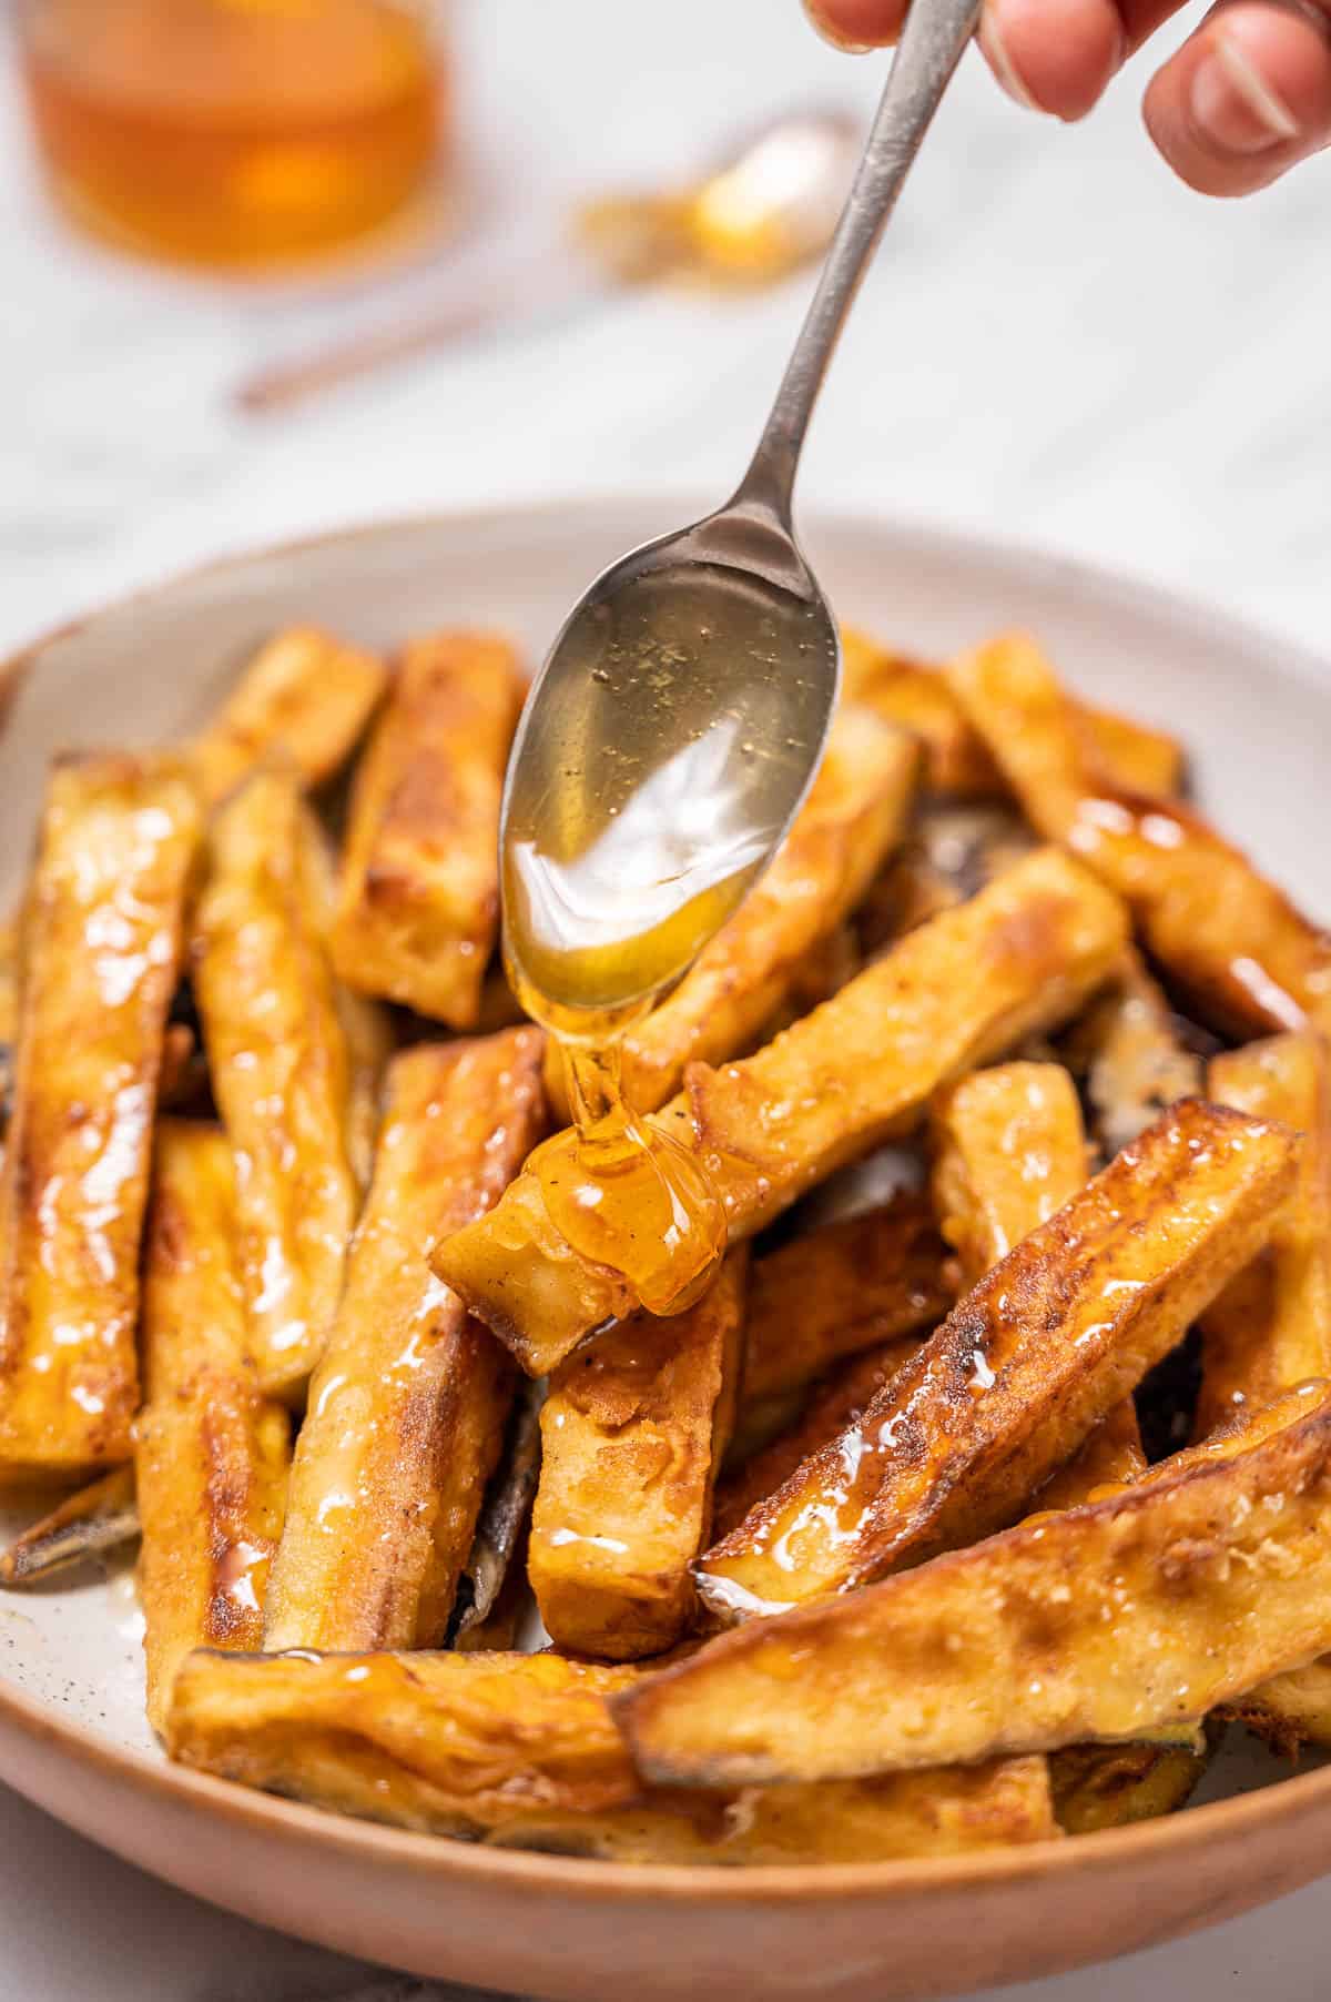
M 781 843 L 841 677 L 791 492 L 837 338 L 979 0 L 915 0 L 777 402 L 735 496 L 604 571 L 518 727 L 504 945 L 528 1005 L 600 1037 L 677 979 Z

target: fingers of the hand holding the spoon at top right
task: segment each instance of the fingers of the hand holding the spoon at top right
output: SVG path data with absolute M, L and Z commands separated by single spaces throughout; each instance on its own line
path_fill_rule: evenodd
M 829 40 L 897 38 L 905 0 L 805 0 Z M 1009 96 L 1085 118 L 1181 0 L 985 0 L 981 48 Z M 1331 0 L 1221 0 L 1151 78 L 1151 138 L 1201 194 L 1251 194 L 1331 144 Z

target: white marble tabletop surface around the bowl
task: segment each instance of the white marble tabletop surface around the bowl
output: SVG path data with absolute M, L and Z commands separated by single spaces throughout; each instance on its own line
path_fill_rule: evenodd
M 460 8 L 490 220 L 454 280 L 546 240 L 572 188 L 650 176 L 791 98 L 869 106 L 881 76 L 823 50 L 797 0 L 648 14 Z M 1275 643 L 1325 645 L 1331 158 L 1253 204 L 1205 206 L 1141 138 L 1139 86 L 1141 64 L 1063 130 L 969 66 L 857 308 L 805 494 L 1099 555 L 1241 607 Z M 622 300 L 284 422 L 228 410 L 244 368 L 418 282 L 262 296 L 74 242 L 42 204 L 0 60 L 0 647 L 270 535 L 628 484 L 721 494 L 803 298 Z M 296 2002 L 368 1978 L 190 1904 L 2 1792 L 0 1856 L 0 1996 Z M 1325 1898 L 1009 1994 L 1313 2002 Z

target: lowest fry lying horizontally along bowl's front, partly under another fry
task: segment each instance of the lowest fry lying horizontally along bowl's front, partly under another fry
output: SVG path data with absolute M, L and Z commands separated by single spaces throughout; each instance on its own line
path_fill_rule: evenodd
M 1043 1760 L 644 1794 L 606 1708 L 632 1680 L 554 1654 L 196 1654 L 168 1740 L 188 1766 L 342 1814 L 620 1862 L 871 1862 L 1057 1834 Z

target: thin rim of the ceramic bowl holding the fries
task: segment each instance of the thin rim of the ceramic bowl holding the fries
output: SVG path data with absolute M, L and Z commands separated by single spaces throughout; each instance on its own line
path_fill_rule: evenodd
M 298 557 L 348 541 L 392 539 L 402 533 L 434 529 L 446 533 L 450 525 L 498 527 L 524 519 L 568 521 L 578 513 L 600 515 L 608 509 L 632 513 L 644 505 L 654 509 L 658 503 L 664 519 L 687 519 L 689 509 L 697 507 L 697 496 L 681 500 L 675 492 L 658 494 L 654 488 L 584 488 L 562 496 L 538 494 L 520 498 L 518 503 L 490 503 L 476 509 L 426 509 L 322 529 L 312 535 L 282 537 L 168 571 L 48 627 L 0 661 L 0 723 L 22 681 L 40 665 L 44 653 L 86 633 L 108 615 L 132 611 L 136 605 L 164 597 L 180 587 L 206 583 L 212 577 L 222 579 L 228 573 L 242 573 L 256 563 Z M 1059 555 L 1021 537 L 953 529 L 869 507 L 819 507 L 815 503 L 805 511 L 805 519 L 813 521 L 819 535 L 827 535 L 831 541 L 847 533 L 877 531 L 899 549 L 927 549 L 933 555 L 951 551 L 959 563 L 1017 567 L 1035 579 L 1075 583 L 1101 603 L 1121 599 L 1127 593 L 1141 609 L 1159 619 L 1173 623 L 1187 621 L 1203 637 L 1205 633 L 1215 633 L 1217 637 L 1223 635 L 1227 647 L 1243 647 L 1255 657 L 1257 673 L 1269 673 L 1267 659 L 1275 653 L 1279 657 L 1281 679 L 1293 677 L 1311 685 L 1331 681 L 1331 655 L 1321 655 L 1307 643 L 1267 629 L 1261 621 L 1245 613 L 1219 611 L 1185 591 L 1135 575 L 1131 569 L 1115 569 L 1083 557 Z M 346 1860 L 360 1858 L 398 1866 L 412 1876 L 442 1874 L 458 1882 L 484 1882 L 494 1888 L 510 1886 L 514 1890 L 542 1886 L 560 1894 L 604 1902 L 652 1896 L 679 1904 L 791 1900 L 815 1904 L 829 1898 L 855 1904 L 883 1900 L 889 1894 L 913 1898 L 921 1892 L 1009 1886 L 1051 1874 L 1081 1874 L 1097 1860 L 1111 1866 L 1129 1860 L 1147 1860 L 1155 1852 L 1177 1852 L 1179 1856 L 1205 1852 L 1219 1836 L 1243 1838 L 1255 1834 L 1331 1798 L 1331 1764 L 1327 1764 L 1313 1772 L 1275 1778 L 1267 1786 L 1231 1796 L 1229 1800 L 1187 1808 L 1181 1814 L 1167 1814 L 1157 1820 L 1129 1824 L 1127 1828 L 1097 1830 L 1075 1840 L 1055 1836 L 1041 1842 L 959 1856 L 903 1858 L 869 1864 L 751 1864 L 743 1870 L 731 1864 L 614 1864 L 550 1852 L 490 1848 L 484 1842 L 450 1836 L 416 1834 L 324 1808 L 310 1808 L 274 1794 L 262 1794 L 238 1782 L 196 1772 L 168 1758 L 118 1744 L 106 1732 L 64 1716 L 58 1704 L 30 1696 L 4 1674 L 0 1674 L 0 1722 L 26 1738 L 60 1750 L 72 1762 L 96 1768 L 104 1778 L 120 1782 L 130 1796 L 154 1798 L 164 1804 L 192 1804 L 218 1822 L 260 1836 L 278 1838 L 288 1844 L 314 1844 Z M 24 1792 L 22 1786 L 18 1790 Z M 38 1790 L 32 1790 L 30 1798 L 38 1806 L 44 1806 Z

